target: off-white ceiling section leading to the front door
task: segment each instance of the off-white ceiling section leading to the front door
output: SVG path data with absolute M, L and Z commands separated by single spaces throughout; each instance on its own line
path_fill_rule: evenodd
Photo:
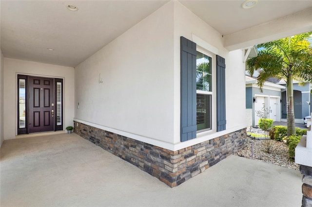
M 5 57 L 75 67 L 166 2 L 1 0 L 1 51 Z

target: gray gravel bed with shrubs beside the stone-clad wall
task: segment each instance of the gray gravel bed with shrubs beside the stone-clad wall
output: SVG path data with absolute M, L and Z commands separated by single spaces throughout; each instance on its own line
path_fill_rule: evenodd
M 247 132 L 250 129 L 247 129 Z M 261 129 L 252 128 L 252 133 L 264 134 L 264 131 Z M 247 137 L 247 146 L 235 153 L 234 155 L 246 157 L 252 159 L 252 150 L 251 150 L 251 138 Z M 288 157 L 288 146 L 284 142 L 269 140 L 272 144 L 271 153 L 265 152 L 264 140 L 253 140 L 253 159 L 258 159 L 266 163 L 272 163 L 274 165 L 279 165 L 284 168 L 299 170 L 299 165 L 292 162 Z

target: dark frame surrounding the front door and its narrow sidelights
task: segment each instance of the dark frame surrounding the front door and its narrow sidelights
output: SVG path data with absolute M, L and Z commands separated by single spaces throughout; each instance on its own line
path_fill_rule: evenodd
M 29 77 L 39 77 L 39 78 L 51 78 L 53 79 L 53 83 L 54 83 L 54 111 L 55 111 L 55 116 L 53 119 L 53 131 L 46 131 L 46 132 L 38 132 L 38 133 L 52 133 L 55 131 L 64 131 L 64 78 L 63 77 L 56 77 L 56 76 L 45 76 L 45 75 L 37 75 L 37 74 L 27 74 L 27 73 L 16 73 L 16 116 L 15 116 L 15 123 L 16 123 L 16 135 L 27 135 L 27 134 L 36 134 L 36 133 L 29 133 L 29 127 L 28 127 L 28 118 L 29 118 L 29 104 L 28 104 L 28 99 L 29 99 L 29 91 L 28 91 L 28 87 L 29 87 Z M 26 80 L 26 87 L 25 87 L 25 128 L 20 129 L 19 127 L 19 121 L 20 121 L 20 105 L 19 105 L 19 80 L 20 79 L 25 79 Z M 57 123 L 57 83 L 60 83 L 60 98 L 61 98 L 61 104 L 58 108 L 60 108 L 61 112 L 60 112 L 60 116 L 61 118 L 58 119 L 58 123 Z

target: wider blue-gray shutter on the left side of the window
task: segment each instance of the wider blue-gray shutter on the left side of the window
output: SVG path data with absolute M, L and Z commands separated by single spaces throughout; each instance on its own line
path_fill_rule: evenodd
M 181 141 L 196 138 L 196 44 L 181 36 Z

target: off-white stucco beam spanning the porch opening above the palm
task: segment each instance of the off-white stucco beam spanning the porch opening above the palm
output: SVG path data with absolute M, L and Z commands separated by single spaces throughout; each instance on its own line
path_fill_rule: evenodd
M 233 51 L 310 31 L 312 31 L 312 7 L 286 17 L 226 35 L 225 48 L 228 51 Z

